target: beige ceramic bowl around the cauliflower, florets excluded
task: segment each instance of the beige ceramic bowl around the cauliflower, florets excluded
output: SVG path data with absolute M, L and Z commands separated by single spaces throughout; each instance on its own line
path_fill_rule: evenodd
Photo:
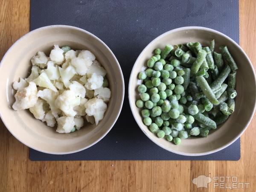
M 72 49 L 88 49 L 107 71 L 112 91 L 104 119 L 99 124 L 87 124 L 79 131 L 58 134 L 54 128 L 37 120 L 28 110 L 14 111 L 12 82 L 27 77 L 30 59 L 38 51 L 49 55 L 54 44 Z M 124 79 L 116 57 L 108 46 L 91 33 L 73 26 L 46 26 L 20 38 L 4 55 L 0 63 L 0 116 L 6 128 L 25 145 L 45 153 L 68 154 L 81 151 L 101 140 L 118 118 L 124 99 Z

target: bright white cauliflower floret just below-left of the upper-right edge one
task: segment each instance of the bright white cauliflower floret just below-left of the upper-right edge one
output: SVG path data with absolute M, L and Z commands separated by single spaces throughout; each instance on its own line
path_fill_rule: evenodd
M 76 68 L 76 72 L 80 76 L 83 76 L 87 73 L 89 67 L 93 64 L 93 62 L 80 57 L 75 57 L 72 58 L 71 64 Z

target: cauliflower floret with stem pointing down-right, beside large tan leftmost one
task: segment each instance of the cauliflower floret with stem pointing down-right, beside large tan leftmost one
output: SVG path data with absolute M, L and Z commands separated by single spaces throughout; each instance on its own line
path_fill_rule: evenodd
M 58 118 L 58 114 L 61 114 L 61 110 L 58 109 L 54 103 L 55 99 L 58 96 L 58 92 L 54 92 L 50 89 L 44 89 L 44 90 L 39 90 L 37 96 L 41 97 L 49 104 L 53 116 L 55 118 Z

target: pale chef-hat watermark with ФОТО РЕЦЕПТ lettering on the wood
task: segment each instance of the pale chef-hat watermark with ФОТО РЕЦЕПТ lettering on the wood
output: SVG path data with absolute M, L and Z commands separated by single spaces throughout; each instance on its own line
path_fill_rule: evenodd
M 206 175 L 199 175 L 192 180 L 197 188 L 208 188 L 208 183 L 213 183 L 213 189 L 248 189 L 250 183 L 239 182 L 236 176 L 214 176 L 207 177 Z

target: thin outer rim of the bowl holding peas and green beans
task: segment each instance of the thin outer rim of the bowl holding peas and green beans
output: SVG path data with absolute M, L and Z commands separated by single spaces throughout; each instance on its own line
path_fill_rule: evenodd
M 217 151 L 220 151 L 226 147 L 228 147 L 229 145 L 231 145 L 232 143 L 234 143 L 239 137 L 241 137 L 241 135 L 244 133 L 244 131 L 247 129 L 248 125 L 250 124 L 252 118 L 253 118 L 253 115 L 255 113 L 255 109 L 256 109 L 256 100 L 254 102 L 254 106 L 253 106 L 253 113 L 251 113 L 250 115 L 250 119 L 248 120 L 247 124 L 245 125 L 245 127 L 242 129 L 242 131 L 233 139 L 231 140 L 229 143 L 227 143 L 226 145 L 223 145 L 221 147 L 218 147 L 214 150 L 210 150 L 210 151 L 207 151 L 207 152 L 201 152 L 201 153 L 185 153 L 185 152 L 180 152 L 180 151 L 175 151 L 173 149 L 170 149 L 170 148 L 167 148 L 165 145 L 162 145 L 161 143 L 157 143 L 153 138 L 151 138 L 148 134 L 145 133 L 144 131 L 144 128 L 142 126 L 140 126 L 140 121 L 139 121 L 139 118 L 136 118 L 136 115 L 135 115 L 135 112 L 132 108 L 132 106 L 135 105 L 135 103 L 133 103 L 131 101 L 131 77 L 132 77 L 132 74 L 135 73 L 135 66 L 137 65 L 137 62 L 139 61 L 140 57 L 142 57 L 143 53 L 146 51 L 146 49 L 151 45 L 153 44 L 155 41 L 157 41 L 158 39 L 162 38 L 163 36 L 165 35 L 168 35 L 172 32 L 178 32 L 178 31 L 181 31 L 181 30 L 191 30 L 191 29 L 199 29 L 199 30 L 204 30 L 204 31 L 208 31 L 208 32 L 213 32 L 213 33 L 216 33 L 218 35 L 221 35 L 221 36 L 224 36 L 225 38 L 227 38 L 229 41 L 231 41 L 233 44 L 235 44 L 239 50 L 241 51 L 242 54 L 244 54 L 244 56 L 247 58 L 247 60 L 249 61 L 249 64 L 250 64 L 250 68 L 251 70 L 253 71 L 253 77 L 254 77 L 254 83 L 256 84 L 256 74 L 255 74 L 255 70 L 253 68 L 253 64 L 251 63 L 250 61 L 250 58 L 247 56 L 247 54 L 244 52 L 244 50 L 239 46 L 239 44 L 237 44 L 233 39 L 231 39 L 230 37 L 228 37 L 227 35 L 219 32 L 219 31 L 216 31 L 214 29 L 210 29 L 210 28 L 207 28 L 207 27 L 201 27 L 201 26 L 185 26 L 185 27 L 180 27 L 180 28 L 176 28 L 176 29 L 172 29 L 168 32 L 165 32 L 163 33 L 162 35 L 159 35 L 157 38 L 155 38 L 154 40 L 152 40 L 143 50 L 142 52 L 140 53 L 140 55 L 138 56 L 138 58 L 136 59 L 135 63 L 134 63 L 134 66 L 131 70 L 131 75 L 130 75 L 130 78 L 129 78 L 129 85 L 128 85 L 128 99 L 129 99 L 129 105 L 130 105 L 130 108 L 131 108 L 131 112 L 134 116 L 134 119 L 135 121 L 137 122 L 137 125 L 140 127 L 140 129 L 143 131 L 143 133 L 152 141 L 154 142 L 156 145 L 160 146 L 161 148 L 164 148 L 165 150 L 167 151 L 170 151 L 172 153 L 175 153 L 175 154 L 180 154 L 180 155 L 186 155 L 186 156 L 201 156 L 201 155 L 207 155 L 207 154 L 212 154 L 212 153 L 215 153 Z

